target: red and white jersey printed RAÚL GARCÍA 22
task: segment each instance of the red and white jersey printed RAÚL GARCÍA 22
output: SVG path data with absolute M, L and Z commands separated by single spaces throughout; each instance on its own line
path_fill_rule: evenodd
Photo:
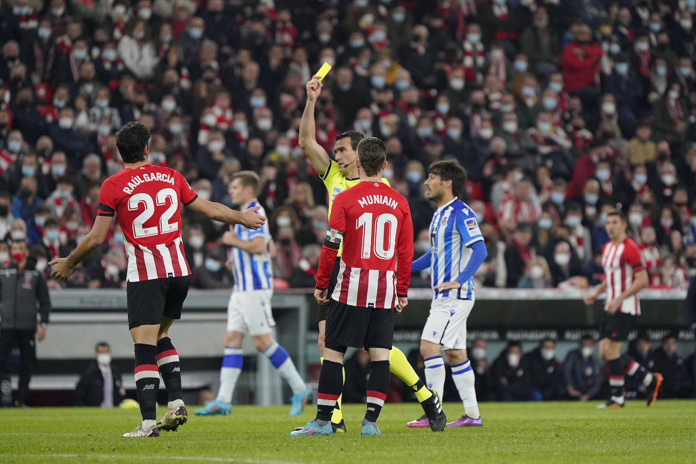
M 126 168 L 104 181 L 97 215 L 118 217 L 128 282 L 191 273 L 181 241 L 181 205 L 196 197 L 184 176 L 152 164 Z

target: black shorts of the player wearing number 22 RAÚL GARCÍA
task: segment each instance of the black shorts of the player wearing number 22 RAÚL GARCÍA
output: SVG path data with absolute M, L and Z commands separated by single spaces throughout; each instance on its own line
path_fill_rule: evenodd
M 163 317 L 180 319 L 190 283 L 191 275 L 128 282 L 128 328 L 159 324 Z

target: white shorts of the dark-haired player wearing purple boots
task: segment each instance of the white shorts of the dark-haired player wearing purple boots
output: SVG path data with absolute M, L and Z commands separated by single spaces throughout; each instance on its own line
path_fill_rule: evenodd
M 444 349 L 466 349 L 466 319 L 473 307 L 474 302 L 471 300 L 433 300 L 420 338 L 440 344 Z

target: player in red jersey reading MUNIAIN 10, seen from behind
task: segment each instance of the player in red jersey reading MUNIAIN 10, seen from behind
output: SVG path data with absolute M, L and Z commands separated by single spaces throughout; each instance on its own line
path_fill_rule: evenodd
M 370 352 L 367 411 L 361 435 L 380 434 L 376 422 L 389 386 L 394 314 L 408 304 L 413 224 L 406 199 L 382 182 L 384 143 L 367 137 L 357 148 L 360 182 L 333 200 L 317 269 L 315 298 L 320 305 L 328 303 L 317 417 L 292 431 L 290 435 L 294 436 L 333 435 L 331 414 L 343 390 L 343 355 L 348 346 L 364 347 Z M 338 280 L 328 295 L 341 243 Z

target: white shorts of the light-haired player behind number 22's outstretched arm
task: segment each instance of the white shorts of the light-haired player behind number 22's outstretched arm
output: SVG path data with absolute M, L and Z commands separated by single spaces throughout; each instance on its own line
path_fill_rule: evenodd
M 264 335 L 276 326 L 271 312 L 272 289 L 232 291 L 227 305 L 227 331 Z

